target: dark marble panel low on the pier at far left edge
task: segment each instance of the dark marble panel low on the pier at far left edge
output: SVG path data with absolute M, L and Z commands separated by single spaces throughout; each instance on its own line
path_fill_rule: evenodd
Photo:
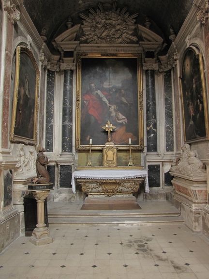
M 4 171 L 4 207 L 12 203 L 12 198 L 13 198 L 12 170 Z

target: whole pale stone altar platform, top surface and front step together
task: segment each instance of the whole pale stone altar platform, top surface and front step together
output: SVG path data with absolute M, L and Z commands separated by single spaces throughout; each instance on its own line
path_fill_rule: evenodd
M 143 224 L 184 222 L 170 202 L 139 202 L 138 210 L 81 210 L 83 202 L 51 202 L 49 224 Z

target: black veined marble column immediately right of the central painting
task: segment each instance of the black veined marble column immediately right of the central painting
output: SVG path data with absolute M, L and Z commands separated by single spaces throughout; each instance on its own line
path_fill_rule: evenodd
M 147 152 L 157 152 L 157 117 L 154 70 L 146 71 Z

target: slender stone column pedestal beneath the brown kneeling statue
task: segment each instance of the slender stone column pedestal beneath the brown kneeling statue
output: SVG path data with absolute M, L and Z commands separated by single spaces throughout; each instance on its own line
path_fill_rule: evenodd
M 37 185 L 37 186 L 40 187 L 41 185 Z M 45 210 L 44 210 L 44 202 L 49 194 L 50 189 L 31 190 L 31 191 L 37 201 L 38 224 L 36 225 L 36 228 L 34 229 L 31 235 L 30 242 L 37 246 L 52 243 L 53 238 L 50 236 L 49 229 L 45 225 Z

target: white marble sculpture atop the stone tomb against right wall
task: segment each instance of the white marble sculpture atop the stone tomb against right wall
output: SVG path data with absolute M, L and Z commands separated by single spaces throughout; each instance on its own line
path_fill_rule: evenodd
M 185 143 L 181 150 L 181 156 L 178 158 L 176 165 L 171 167 L 171 172 L 190 177 L 206 176 L 205 165 L 198 158 L 197 151 L 191 150 L 188 143 Z

